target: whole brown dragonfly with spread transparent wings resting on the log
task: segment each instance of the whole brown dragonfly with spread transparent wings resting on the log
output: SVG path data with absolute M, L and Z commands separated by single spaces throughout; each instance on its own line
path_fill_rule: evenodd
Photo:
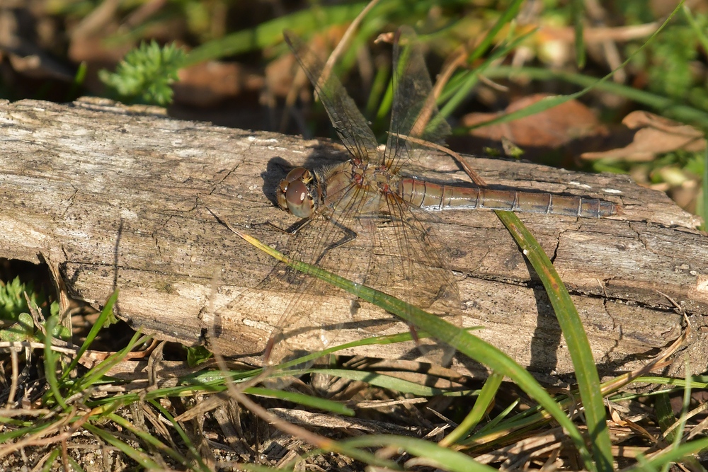
M 283 251 L 289 258 L 378 289 L 459 326 L 457 283 L 434 229 L 439 218 L 431 212 L 489 208 L 589 218 L 617 214 L 617 206 L 604 200 L 440 185 L 406 175 L 406 165 L 425 151 L 421 143 L 440 144 L 450 134 L 431 98 L 430 76 L 411 28 L 399 28 L 394 36 L 392 114 L 385 147 L 379 146 L 336 75 L 295 34 L 283 35 L 350 154 L 348 161 L 335 166 L 295 168 L 278 185 L 278 206 L 303 219 Z M 265 364 L 299 357 L 312 346 L 327 347 L 347 323 L 372 332 L 392 323 L 386 317 L 358 316 L 366 302 L 284 263 L 261 289 L 292 294 L 265 347 Z M 411 333 L 417 345 L 411 357 L 422 352 L 433 362 L 450 361 L 450 345 L 418 339 L 412 327 Z

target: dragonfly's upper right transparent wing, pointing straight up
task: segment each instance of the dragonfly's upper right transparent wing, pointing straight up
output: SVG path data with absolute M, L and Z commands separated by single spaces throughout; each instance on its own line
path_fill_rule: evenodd
M 391 127 L 382 159 L 395 173 L 411 157 L 410 151 L 420 147 L 404 136 L 442 144 L 450 135 L 450 125 L 435 104 L 421 45 L 411 28 L 402 26 L 396 32 L 393 57 Z

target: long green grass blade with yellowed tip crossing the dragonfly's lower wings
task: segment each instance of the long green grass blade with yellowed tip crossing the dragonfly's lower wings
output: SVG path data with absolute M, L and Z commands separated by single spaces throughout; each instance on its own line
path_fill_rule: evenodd
M 590 456 L 590 452 L 586 447 L 583 436 L 578 430 L 578 427 L 571 421 L 570 418 L 564 413 L 559 405 L 557 405 L 551 396 L 545 391 L 545 389 L 538 384 L 538 382 L 528 373 L 523 367 L 516 364 L 513 359 L 508 357 L 506 354 L 496 349 L 492 345 L 485 343 L 476 336 L 467 333 L 466 330 L 457 328 L 447 321 L 442 320 L 438 316 L 426 313 L 416 306 L 406 304 L 403 301 L 389 297 L 387 294 L 379 292 L 378 290 L 371 289 L 361 284 L 356 284 L 350 282 L 343 277 L 338 277 L 326 270 L 322 270 L 314 265 L 309 265 L 296 260 L 290 260 L 282 253 L 275 251 L 275 249 L 261 243 L 256 238 L 244 234 L 241 231 L 232 228 L 238 236 L 244 238 L 244 240 L 251 243 L 256 248 L 261 251 L 268 253 L 290 267 L 295 268 L 301 272 L 308 275 L 313 275 L 320 278 L 336 287 L 355 294 L 362 300 L 370 301 L 371 303 L 381 307 L 382 309 L 394 313 L 396 316 L 403 318 L 404 321 L 411 323 L 416 328 L 425 330 L 428 333 L 436 333 L 435 338 L 442 340 L 445 343 L 450 343 L 459 352 L 467 355 L 471 359 L 476 360 L 482 364 L 486 364 L 491 367 L 498 374 L 505 375 L 513 379 L 520 388 L 523 389 L 531 398 L 540 403 L 553 418 L 560 423 L 562 427 L 565 428 L 571 437 L 573 444 L 575 444 L 578 449 L 579 454 L 583 459 L 583 463 L 590 471 L 598 470 L 593 463 L 593 458 Z M 608 438 L 609 439 L 609 438 Z M 611 462 L 610 462 L 611 466 Z M 610 470 L 605 467 L 604 461 L 600 463 L 601 470 Z

